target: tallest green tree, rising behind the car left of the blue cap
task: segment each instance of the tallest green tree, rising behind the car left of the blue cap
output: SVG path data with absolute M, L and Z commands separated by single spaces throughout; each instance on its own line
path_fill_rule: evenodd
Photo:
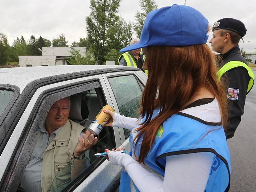
M 91 0 L 91 13 L 86 17 L 87 36 L 97 64 L 103 64 L 106 55 L 108 29 L 118 20 L 121 0 Z

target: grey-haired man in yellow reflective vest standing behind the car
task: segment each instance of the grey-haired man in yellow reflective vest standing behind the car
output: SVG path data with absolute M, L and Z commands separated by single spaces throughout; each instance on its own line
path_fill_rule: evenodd
M 140 41 L 139 38 L 132 39 L 131 45 L 138 43 L 139 41 Z M 147 74 L 147 70 L 145 71 L 142 69 L 143 63 L 144 63 L 144 57 L 143 57 L 143 54 L 141 53 L 141 49 L 125 52 L 121 54 L 120 57 L 118 58 L 119 65 L 137 67 Z

